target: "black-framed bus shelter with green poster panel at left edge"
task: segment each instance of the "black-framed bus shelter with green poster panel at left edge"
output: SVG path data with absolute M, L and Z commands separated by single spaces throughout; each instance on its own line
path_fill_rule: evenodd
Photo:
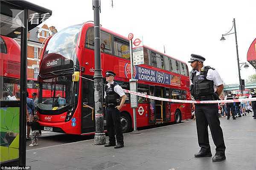
M 0 164 L 23 167 L 26 166 L 27 33 L 47 20 L 52 11 L 23 0 L 0 3 Z M 7 40 L 19 36 L 20 51 L 13 54 L 12 44 L 8 44 L 10 48 L 6 46 Z M 12 61 L 12 55 L 20 58 Z

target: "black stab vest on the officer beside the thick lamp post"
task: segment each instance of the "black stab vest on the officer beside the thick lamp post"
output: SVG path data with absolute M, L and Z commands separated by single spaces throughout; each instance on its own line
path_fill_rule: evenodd
M 106 91 L 106 99 L 105 102 L 107 105 L 118 105 L 120 102 L 120 96 L 114 91 L 114 87 L 118 85 L 116 82 L 113 84 L 110 84 L 110 87 L 108 88 L 108 85 L 105 85 L 105 91 Z

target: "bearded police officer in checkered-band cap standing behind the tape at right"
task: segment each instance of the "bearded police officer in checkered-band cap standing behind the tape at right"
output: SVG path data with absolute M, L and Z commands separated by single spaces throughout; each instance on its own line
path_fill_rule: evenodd
M 192 71 L 190 79 L 191 95 L 196 100 L 217 100 L 224 86 L 218 72 L 210 66 L 204 66 L 205 58 L 200 55 L 191 54 L 190 65 Z M 214 85 L 217 91 L 214 92 Z M 212 161 L 223 161 L 225 156 L 225 144 L 223 132 L 218 118 L 218 103 L 212 104 L 195 104 L 196 127 L 198 133 L 198 144 L 201 147 L 195 157 L 211 157 L 209 145 L 208 125 L 211 130 L 212 139 L 216 146 L 216 154 Z

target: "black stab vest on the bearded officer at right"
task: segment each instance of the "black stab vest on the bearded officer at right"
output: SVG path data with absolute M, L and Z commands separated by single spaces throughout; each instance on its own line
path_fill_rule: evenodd
M 197 100 L 212 100 L 214 99 L 214 83 L 212 80 L 206 79 L 208 70 L 211 68 L 210 66 L 205 66 L 201 68 L 200 74 L 197 76 L 196 71 L 194 73 L 191 72 L 191 81 L 193 82 L 193 89 L 191 94 Z

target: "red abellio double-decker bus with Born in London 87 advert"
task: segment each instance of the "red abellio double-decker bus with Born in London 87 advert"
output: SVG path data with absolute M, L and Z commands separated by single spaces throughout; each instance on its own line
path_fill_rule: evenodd
M 38 115 L 42 130 L 69 134 L 95 132 L 94 115 L 94 35 L 93 23 L 70 26 L 50 37 L 43 49 L 38 83 Z M 101 27 L 101 63 L 103 73 L 116 73 L 115 80 L 129 89 L 130 54 L 128 39 Z M 144 64 L 134 66 L 138 92 L 169 99 L 190 100 L 189 72 L 185 62 L 143 46 Z M 74 71 L 80 79 L 72 81 Z M 105 78 L 103 83 L 106 84 Z M 52 86 L 54 95 L 45 98 L 43 89 Z M 56 96 L 55 90 L 62 93 Z M 133 127 L 130 94 L 122 107 L 123 132 Z M 163 102 L 138 97 L 137 127 L 191 118 L 191 104 Z

